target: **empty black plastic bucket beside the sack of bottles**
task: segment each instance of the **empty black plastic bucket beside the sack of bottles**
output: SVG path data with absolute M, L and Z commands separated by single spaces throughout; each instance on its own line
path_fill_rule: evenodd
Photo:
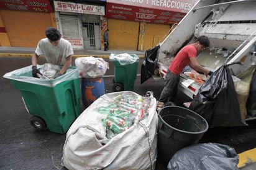
M 197 143 L 208 130 L 208 123 L 201 115 L 183 107 L 163 107 L 158 117 L 157 152 L 165 166 L 176 151 Z

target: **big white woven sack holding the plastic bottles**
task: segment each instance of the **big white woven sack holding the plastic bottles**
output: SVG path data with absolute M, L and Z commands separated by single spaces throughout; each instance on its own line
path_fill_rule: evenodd
M 126 91 L 133 95 L 135 92 Z M 62 165 L 68 169 L 155 169 L 157 160 L 157 102 L 152 97 L 149 115 L 110 140 L 98 107 L 122 92 L 104 94 L 93 102 L 66 133 Z

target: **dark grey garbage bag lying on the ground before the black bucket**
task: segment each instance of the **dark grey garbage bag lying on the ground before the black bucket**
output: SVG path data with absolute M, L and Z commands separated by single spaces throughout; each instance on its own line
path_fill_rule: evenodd
M 219 143 L 198 143 L 177 151 L 168 163 L 168 170 L 235 170 L 239 156 L 234 148 Z

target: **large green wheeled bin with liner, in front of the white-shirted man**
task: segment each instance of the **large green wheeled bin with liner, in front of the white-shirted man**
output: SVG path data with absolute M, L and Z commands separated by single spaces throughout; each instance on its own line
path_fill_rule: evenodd
M 30 123 L 37 130 L 66 133 L 80 115 L 81 91 L 76 67 L 70 66 L 66 74 L 52 80 L 32 77 L 32 66 L 16 69 L 3 77 L 21 91 L 31 115 Z

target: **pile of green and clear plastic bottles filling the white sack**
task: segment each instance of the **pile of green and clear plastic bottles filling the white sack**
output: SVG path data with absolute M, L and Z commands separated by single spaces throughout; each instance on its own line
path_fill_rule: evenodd
M 106 119 L 102 120 L 106 127 L 106 137 L 112 138 L 147 117 L 151 99 L 124 92 L 109 101 L 107 107 L 99 107 L 99 113 L 107 114 Z

